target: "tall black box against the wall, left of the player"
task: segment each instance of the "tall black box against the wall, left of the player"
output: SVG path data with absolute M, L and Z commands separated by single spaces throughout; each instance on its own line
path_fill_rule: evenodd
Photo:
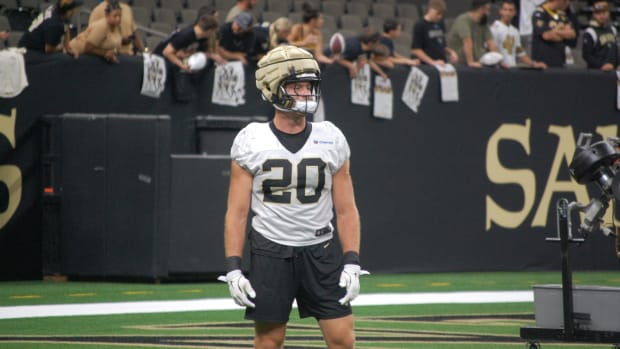
M 61 272 L 167 275 L 170 119 L 63 114 L 48 175 L 60 198 Z

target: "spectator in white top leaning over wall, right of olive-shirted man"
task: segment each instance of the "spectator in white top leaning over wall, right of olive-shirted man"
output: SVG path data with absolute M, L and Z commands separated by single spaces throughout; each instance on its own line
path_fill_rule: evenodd
M 504 56 L 504 64 L 507 67 L 517 66 L 519 60 L 532 68 L 547 68 L 544 62 L 533 61 L 521 46 L 521 35 L 519 30 L 512 25 L 512 19 L 517 14 L 517 7 L 513 0 L 502 0 L 500 2 L 499 19 L 491 25 L 493 39 L 497 47 Z

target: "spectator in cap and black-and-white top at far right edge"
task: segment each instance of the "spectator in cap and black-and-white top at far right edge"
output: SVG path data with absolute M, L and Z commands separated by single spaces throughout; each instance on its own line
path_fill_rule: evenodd
M 618 60 L 618 31 L 609 20 L 609 3 L 592 3 L 592 20 L 583 34 L 582 54 L 590 69 L 611 71 Z

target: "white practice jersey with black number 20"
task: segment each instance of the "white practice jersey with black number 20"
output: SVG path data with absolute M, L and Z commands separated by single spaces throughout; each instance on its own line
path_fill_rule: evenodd
M 291 153 L 269 123 L 243 128 L 231 157 L 253 177 L 252 228 L 282 245 L 307 246 L 333 237 L 332 176 L 349 159 L 342 132 L 313 122 L 304 146 Z

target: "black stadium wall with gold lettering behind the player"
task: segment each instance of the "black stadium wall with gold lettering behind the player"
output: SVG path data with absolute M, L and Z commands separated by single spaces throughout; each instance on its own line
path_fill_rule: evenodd
M 211 103 L 213 69 L 195 77 L 199 97 L 179 103 L 169 86 L 160 98 L 140 94 L 138 57 L 28 62 L 29 87 L 0 99 L 0 279 L 220 271 L 228 159 L 198 154 L 196 144 L 221 139 L 218 148 L 226 149 L 234 132 L 197 127 L 196 117 L 270 116 L 253 86 L 253 67 L 246 103 L 230 107 Z M 585 203 L 598 194 L 572 182 L 567 164 L 580 132 L 595 140 L 618 135 L 615 74 L 462 68 L 459 101 L 441 102 L 438 73 L 422 69 L 429 84 L 417 113 L 401 100 L 408 68 L 389 73 L 392 120 L 351 103 L 344 69 L 323 72 L 326 118 L 352 148 L 365 267 L 559 269 L 559 246 L 545 242 L 556 233 L 555 202 Z M 86 117 L 73 127 L 62 121 L 71 114 Z M 72 131 L 45 132 L 50 118 Z M 91 166 L 96 159 L 116 172 Z M 133 166 L 138 160 L 148 166 Z M 138 189 L 145 183 L 149 191 Z M 593 234 L 574 247 L 572 262 L 583 270 L 617 269 L 614 245 Z

